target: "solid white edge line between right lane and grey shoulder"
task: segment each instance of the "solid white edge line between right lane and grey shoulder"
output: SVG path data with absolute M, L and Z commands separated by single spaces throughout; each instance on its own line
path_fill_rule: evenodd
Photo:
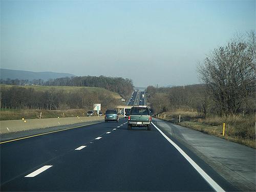
M 193 161 L 175 142 L 173 142 L 170 138 L 168 138 L 154 123 L 152 123 L 156 129 L 164 136 L 164 138 L 170 142 L 180 154 L 197 170 L 197 172 L 204 178 L 204 180 L 216 191 L 225 191 L 218 185 L 210 176 L 208 176 L 204 170 L 195 162 Z

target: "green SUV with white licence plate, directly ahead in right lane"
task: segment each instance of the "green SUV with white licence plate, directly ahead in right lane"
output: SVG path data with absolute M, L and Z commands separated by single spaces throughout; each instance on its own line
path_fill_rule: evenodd
M 150 110 L 146 106 L 133 106 L 128 116 L 128 130 L 132 126 L 146 126 L 150 131 L 151 120 Z

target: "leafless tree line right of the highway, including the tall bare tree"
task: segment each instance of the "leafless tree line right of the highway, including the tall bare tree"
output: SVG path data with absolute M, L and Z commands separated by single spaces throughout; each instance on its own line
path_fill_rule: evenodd
M 214 49 L 198 67 L 203 84 L 173 88 L 147 87 L 158 113 L 193 108 L 220 116 L 255 112 L 256 34 L 250 32 Z

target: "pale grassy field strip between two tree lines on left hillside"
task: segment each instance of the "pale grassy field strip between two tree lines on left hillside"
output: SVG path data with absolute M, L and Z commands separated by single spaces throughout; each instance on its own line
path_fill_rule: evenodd
M 121 96 L 118 93 L 108 91 L 103 88 L 96 88 L 96 87 L 68 87 L 68 86 L 12 86 L 12 85 L 7 85 L 7 84 L 1 84 L 0 89 L 3 88 L 12 88 L 12 87 L 20 87 L 20 88 L 32 88 L 35 91 L 63 91 L 63 92 L 75 92 L 75 91 L 80 91 L 80 90 L 87 90 L 89 92 L 101 92 L 101 93 L 106 93 L 106 94 L 111 94 L 115 99 L 121 99 Z

